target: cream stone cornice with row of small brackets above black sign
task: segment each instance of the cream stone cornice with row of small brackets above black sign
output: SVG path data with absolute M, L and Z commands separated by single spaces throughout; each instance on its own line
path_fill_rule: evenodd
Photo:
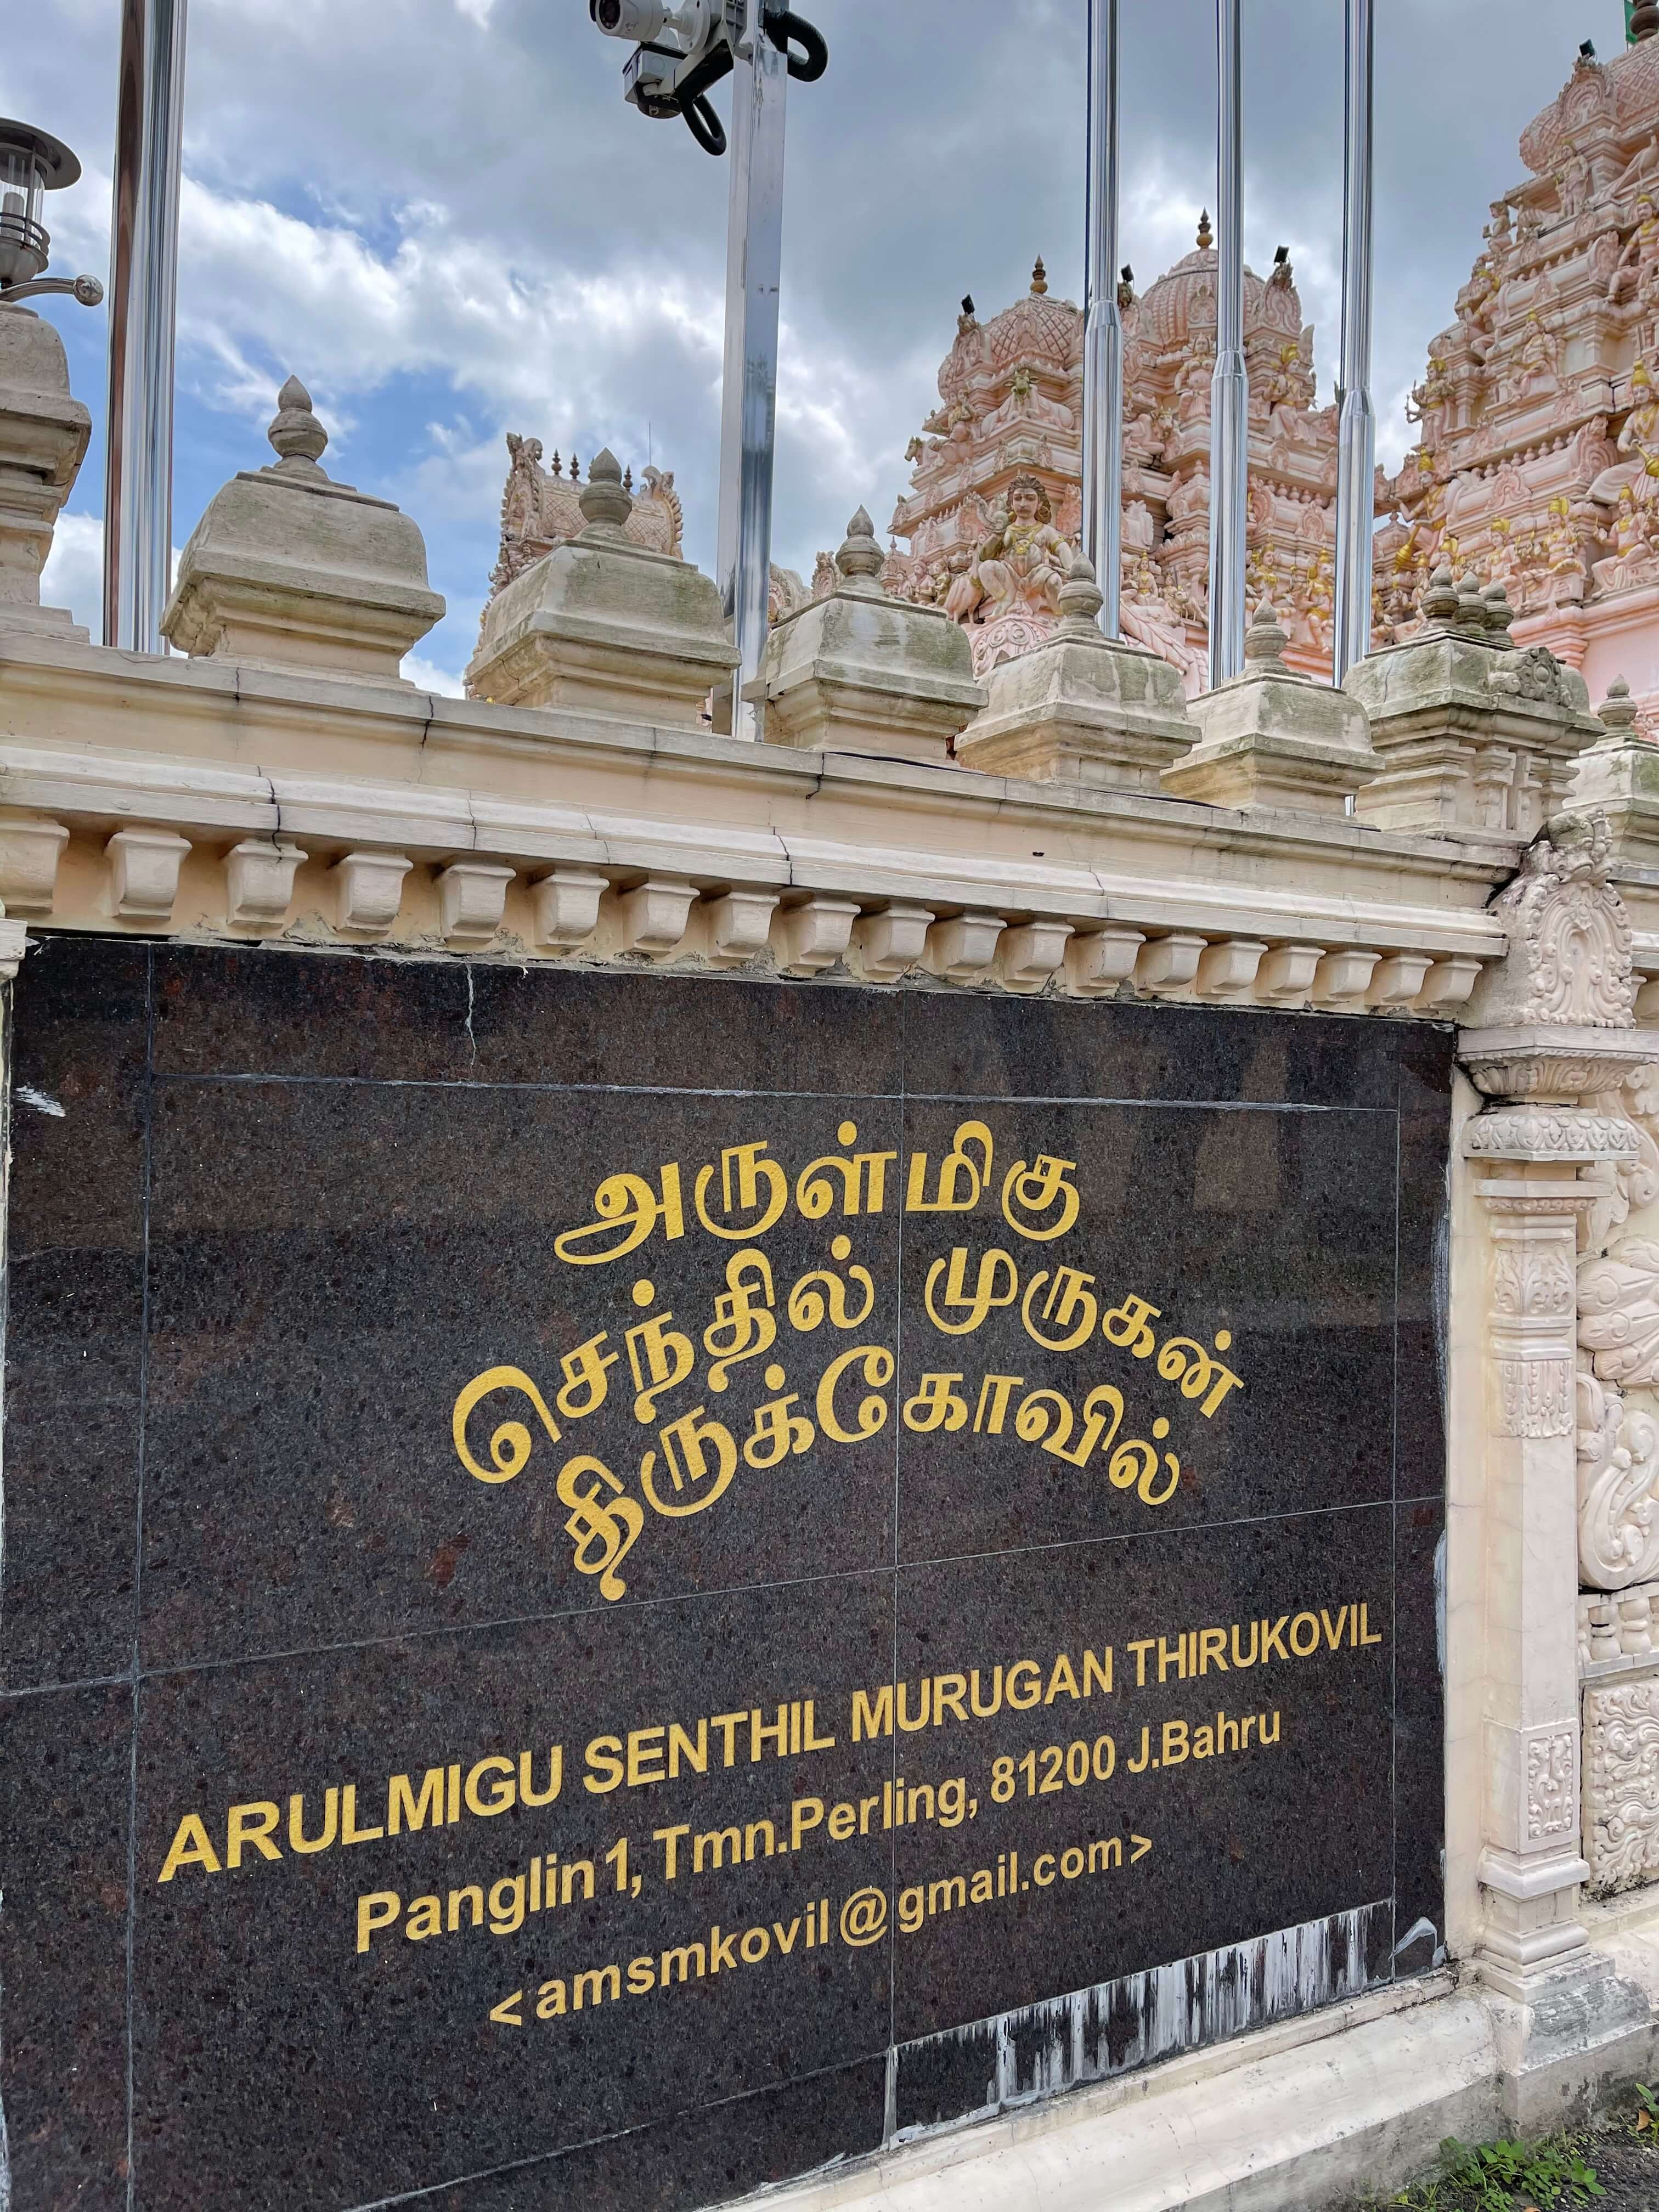
M 166 887 L 142 907 L 111 898 L 117 852 L 124 869 L 133 860 L 113 843 L 139 827 L 179 841 L 173 863 L 175 847 L 146 847 L 146 867 L 170 865 L 184 887 L 173 902 Z M 389 925 L 361 918 L 376 854 L 414 863 Z M 1040 989 L 1064 975 L 1079 995 L 1133 984 L 1447 1018 L 1504 951 L 1486 900 L 1517 858 L 1513 838 L 1480 832 L 1396 834 L 246 664 L 0 641 L 0 896 L 13 916 L 73 927 L 343 929 L 354 942 L 372 927 L 394 945 L 442 945 L 458 942 L 465 911 L 469 942 L 520 958 L 644 949 L 818 971 L 856 967 L 872 918 L 905 902 L 918 920 L 880 922 L 874 978 L 905 971 L 894 942 L 911 936 L 909 964 L 931 964 L 931 938 L 951 927 L 951 980 Z M 469 872 L 467 898 L 453 869 Z M 657 889 L 641 902 L 646 883 Z M 489 898 L 493 929 L 478 920 Z M 953 918 L 971 920 L 964 942 L 982 958 L 962 956 Z

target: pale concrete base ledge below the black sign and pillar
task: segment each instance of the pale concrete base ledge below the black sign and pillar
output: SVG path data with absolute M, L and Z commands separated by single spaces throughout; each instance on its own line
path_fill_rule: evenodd
M 1455 1969 L 783 2190 L 787 2212 L 1321 2212 L 1405 2185 L 1447 2135 L 1588 2112 L 1659 2057 L 1659 1902 L 1597 1973 L 1517 2006 Z

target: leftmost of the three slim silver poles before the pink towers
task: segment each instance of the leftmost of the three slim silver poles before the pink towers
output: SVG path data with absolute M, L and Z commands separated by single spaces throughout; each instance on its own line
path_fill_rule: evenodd
M 1124 323 L 1117 312 L 1117 0 L 1088 0 L 1084 276 L 1084 553 L 1099 626 L 1119 635 L 1124 544 Z

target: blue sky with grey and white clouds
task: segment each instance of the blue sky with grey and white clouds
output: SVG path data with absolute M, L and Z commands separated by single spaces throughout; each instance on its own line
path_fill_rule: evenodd
M 774 557 L 812 571 L 865 502 L 891 513 L 956 303 L 1042 252 L 1082 296 L 1084 0 L 796 0 L 830 73 L 790 95 Z M 1121 0 L 1124 254 L 1146 285 L 1214 197 L 1210 0 Z M 1449 321 L 1515 139 L 1621 0 L 1383 0 L 1376 33 L 1383 458 Z M 117 0 L 15 9 L 0 111 L 80 153 L 53 270 L 106 274 Z M 1245 254 L 1290 246 L 1336 352 L 1340 0 L 1245 0 Z M 447 619 L 411 675 L 458 686 L 495 557 L 502 431 L 655 456 L 712 566 L 726 164 L 622 106 L 626 46 L 586 0 L 190 0 L 175 540 L 270 453 L 292 369 L 327 467 L 427 533 Z M 726 91 L 717 93 L 726 100 Z M 104 314 L 46 307 L 102 427 Z M 49 599 L 97 635 L 95 434 Z

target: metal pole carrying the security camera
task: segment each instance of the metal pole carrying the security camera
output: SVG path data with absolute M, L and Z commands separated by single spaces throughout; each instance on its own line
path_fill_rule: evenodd
M 763 710 L 743 699 L 761 672 L 772 577 L 772 445 L 779 396 L 779 276 L 783 270 L 783 51 L 748 4 L 732 69 L 732 197 L 726 217 L 726 367 L 721 500 L 714 573 L 743 655 L 732 670 L 732 737 L 757 739 Z

